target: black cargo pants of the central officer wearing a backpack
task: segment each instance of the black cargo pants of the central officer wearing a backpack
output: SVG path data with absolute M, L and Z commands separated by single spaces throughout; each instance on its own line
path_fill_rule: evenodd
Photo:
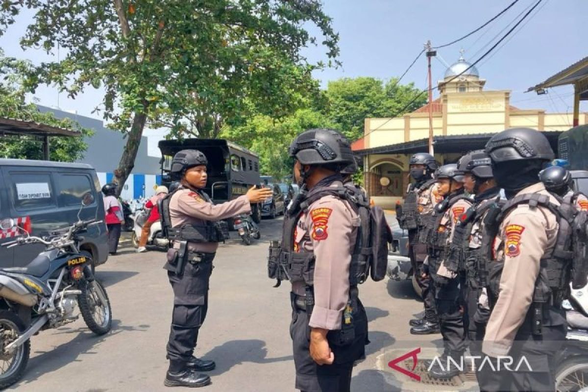
M 339 344 L 338 331 L 329 331 L 327 339 L 335 355 L 335 362 L 331 365 L 319 366 L 310 357 L 309 316 L 302 306 L 296 305 L 296 294 L 290 293 L 290 299 L 292 303 L 290 337 L 296 367 L 296 389 L 303 392 L 349 392 L 353 362 L 365 358 L 365 345 L 369 343 L 368 316 L 361 301 L 358 299 L 353 306 L 352 317 L 355 327 L 353 341 L 345 345 Z

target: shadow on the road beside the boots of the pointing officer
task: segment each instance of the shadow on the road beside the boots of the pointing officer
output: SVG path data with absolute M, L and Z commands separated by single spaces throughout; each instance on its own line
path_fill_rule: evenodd
M 230 340 L 220 346 L 216 346 L 211 351 L 202 355 L 202 358 L 211 359 L 216 362 L 216 370 L 212 371 L 211 376 L 218 376 L 229 371 L 235 365 L 243 362 L 253 363 L 275 363 L 282 361 L 292 361 L 293 356 L 266 358 L 268 349 L 263 340 Z

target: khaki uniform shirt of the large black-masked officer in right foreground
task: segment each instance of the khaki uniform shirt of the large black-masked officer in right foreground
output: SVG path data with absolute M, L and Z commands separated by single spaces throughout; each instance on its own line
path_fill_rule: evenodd
M 518 195 L 549 195 L 543 183 L 521 190 Z M 551 195 L 550 202 L 559 205 Z M 539 261 L 552 252 L 557 217 L 544 207 L 522 204 L 511 210 L 500 224 L 495 239 L 496 260 L 504 263 L 499 297 L 486 327 L 482 351 L 492 357 L 506 356 L 532 303 Z

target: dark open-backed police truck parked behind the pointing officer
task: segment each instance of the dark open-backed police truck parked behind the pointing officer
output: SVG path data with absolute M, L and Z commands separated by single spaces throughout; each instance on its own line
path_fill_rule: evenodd
M 171 182 L 169 170 L 176 152 L 183 149 L 200 150 L 208 159 L 208 183 L 205 192 L 215 203 L 224 203 L 245 195 L 253 185 L 260 185 L 259 157 L 248 149 L 225 139 L 160 140 L 163 185 Z M 251 206 L 256 223 L 261 220 L 259 204 Z M 230 223 L 230 222 L 229 222 Z

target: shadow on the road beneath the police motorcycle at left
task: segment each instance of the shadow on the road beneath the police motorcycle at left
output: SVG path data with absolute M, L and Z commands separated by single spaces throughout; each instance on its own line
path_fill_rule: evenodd
M 34 358 L 31 358 L 26 366 L 24 377 L 19 383 L 16 383 L 11 389 L 18 388 L 23 383 L 31 383 L 46 373 L 51 373 L 54 370 L 65 366 L 68 363 L 75 361 L 82 361 L 78 359 L 80 354 L 96 354 L 96 351 L 92 350 L 93 347 L 101 343 L 103 340 L 108 339 L 109 336 L 121 333 L 123 331 L 146 331 L 148 325 L 141 326 L 125 326 L 121 325 L 121 320 L 112 320 L 112 330 L 110 333 L 96 336 L 92 332 L 88 331 L 85 327 L 83 329 L 71 329 L 69 327 L 61 327 L 57 331 L 58 334 L 74 334 L 78 335 L 69 341 L 66 341 L 51 351 L 34 351 L 35 340 L 32 340 L 31 354 L 37 354 Z M 38 338 L 42 339 L 43 334 L 41 333 Z

